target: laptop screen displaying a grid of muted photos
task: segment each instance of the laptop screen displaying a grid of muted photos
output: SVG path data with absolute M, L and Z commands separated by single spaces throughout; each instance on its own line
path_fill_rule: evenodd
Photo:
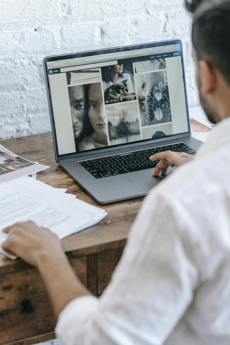
M 177 42 L 48 59 L 58 155 L 189 132 Z

